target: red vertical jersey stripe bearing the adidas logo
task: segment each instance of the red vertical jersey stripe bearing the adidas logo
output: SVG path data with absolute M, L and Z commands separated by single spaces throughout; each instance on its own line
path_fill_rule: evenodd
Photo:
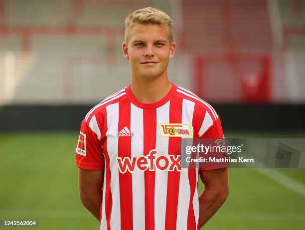
M 130 102 L 127 99 L 119 102 L 118 130 L 125 126 L 130 127 Z M 118 156 L 131 158 L 131 136 L 120 136 L 118 142 Z M 133 230 L 132 174 L 130 172 L 119 172 L 119 181 L 121 229 Z

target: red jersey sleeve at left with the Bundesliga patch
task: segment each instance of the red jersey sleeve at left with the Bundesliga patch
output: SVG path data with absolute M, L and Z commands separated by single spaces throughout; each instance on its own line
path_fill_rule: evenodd
M 104 169 L 103 147 L 97 134 L 85 120 L 82 121 L 75 155 L 78 168 L 87 170 Z

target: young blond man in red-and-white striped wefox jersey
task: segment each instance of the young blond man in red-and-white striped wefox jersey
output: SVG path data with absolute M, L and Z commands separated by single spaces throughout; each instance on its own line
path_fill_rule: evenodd
M 82 121 L 80 199 L 101 230 L 199 229 L 228 196 L 227 169 L 179 169 L 176 161 L 181 138 L 222 138 L 220 119 L 209 104 L 168 81 L 176 44 L 166 13 L 136 10 L 125 28 L 131 84 Z M 198 174 L 205 184 L 199 197 Z

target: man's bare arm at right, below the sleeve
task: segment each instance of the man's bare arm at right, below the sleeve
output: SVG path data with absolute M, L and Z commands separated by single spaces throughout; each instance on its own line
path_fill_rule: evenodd
M 205 185 L 199 195 L 199 226 L 204 226 L 229 195 L 228 169 L 199 171 Z

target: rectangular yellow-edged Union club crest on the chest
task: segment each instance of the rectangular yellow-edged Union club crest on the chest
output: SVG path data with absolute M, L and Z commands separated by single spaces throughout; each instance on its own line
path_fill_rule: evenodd
M 161 136 L 192 138 L 193 134 L 189 124 L 158 123 Z

